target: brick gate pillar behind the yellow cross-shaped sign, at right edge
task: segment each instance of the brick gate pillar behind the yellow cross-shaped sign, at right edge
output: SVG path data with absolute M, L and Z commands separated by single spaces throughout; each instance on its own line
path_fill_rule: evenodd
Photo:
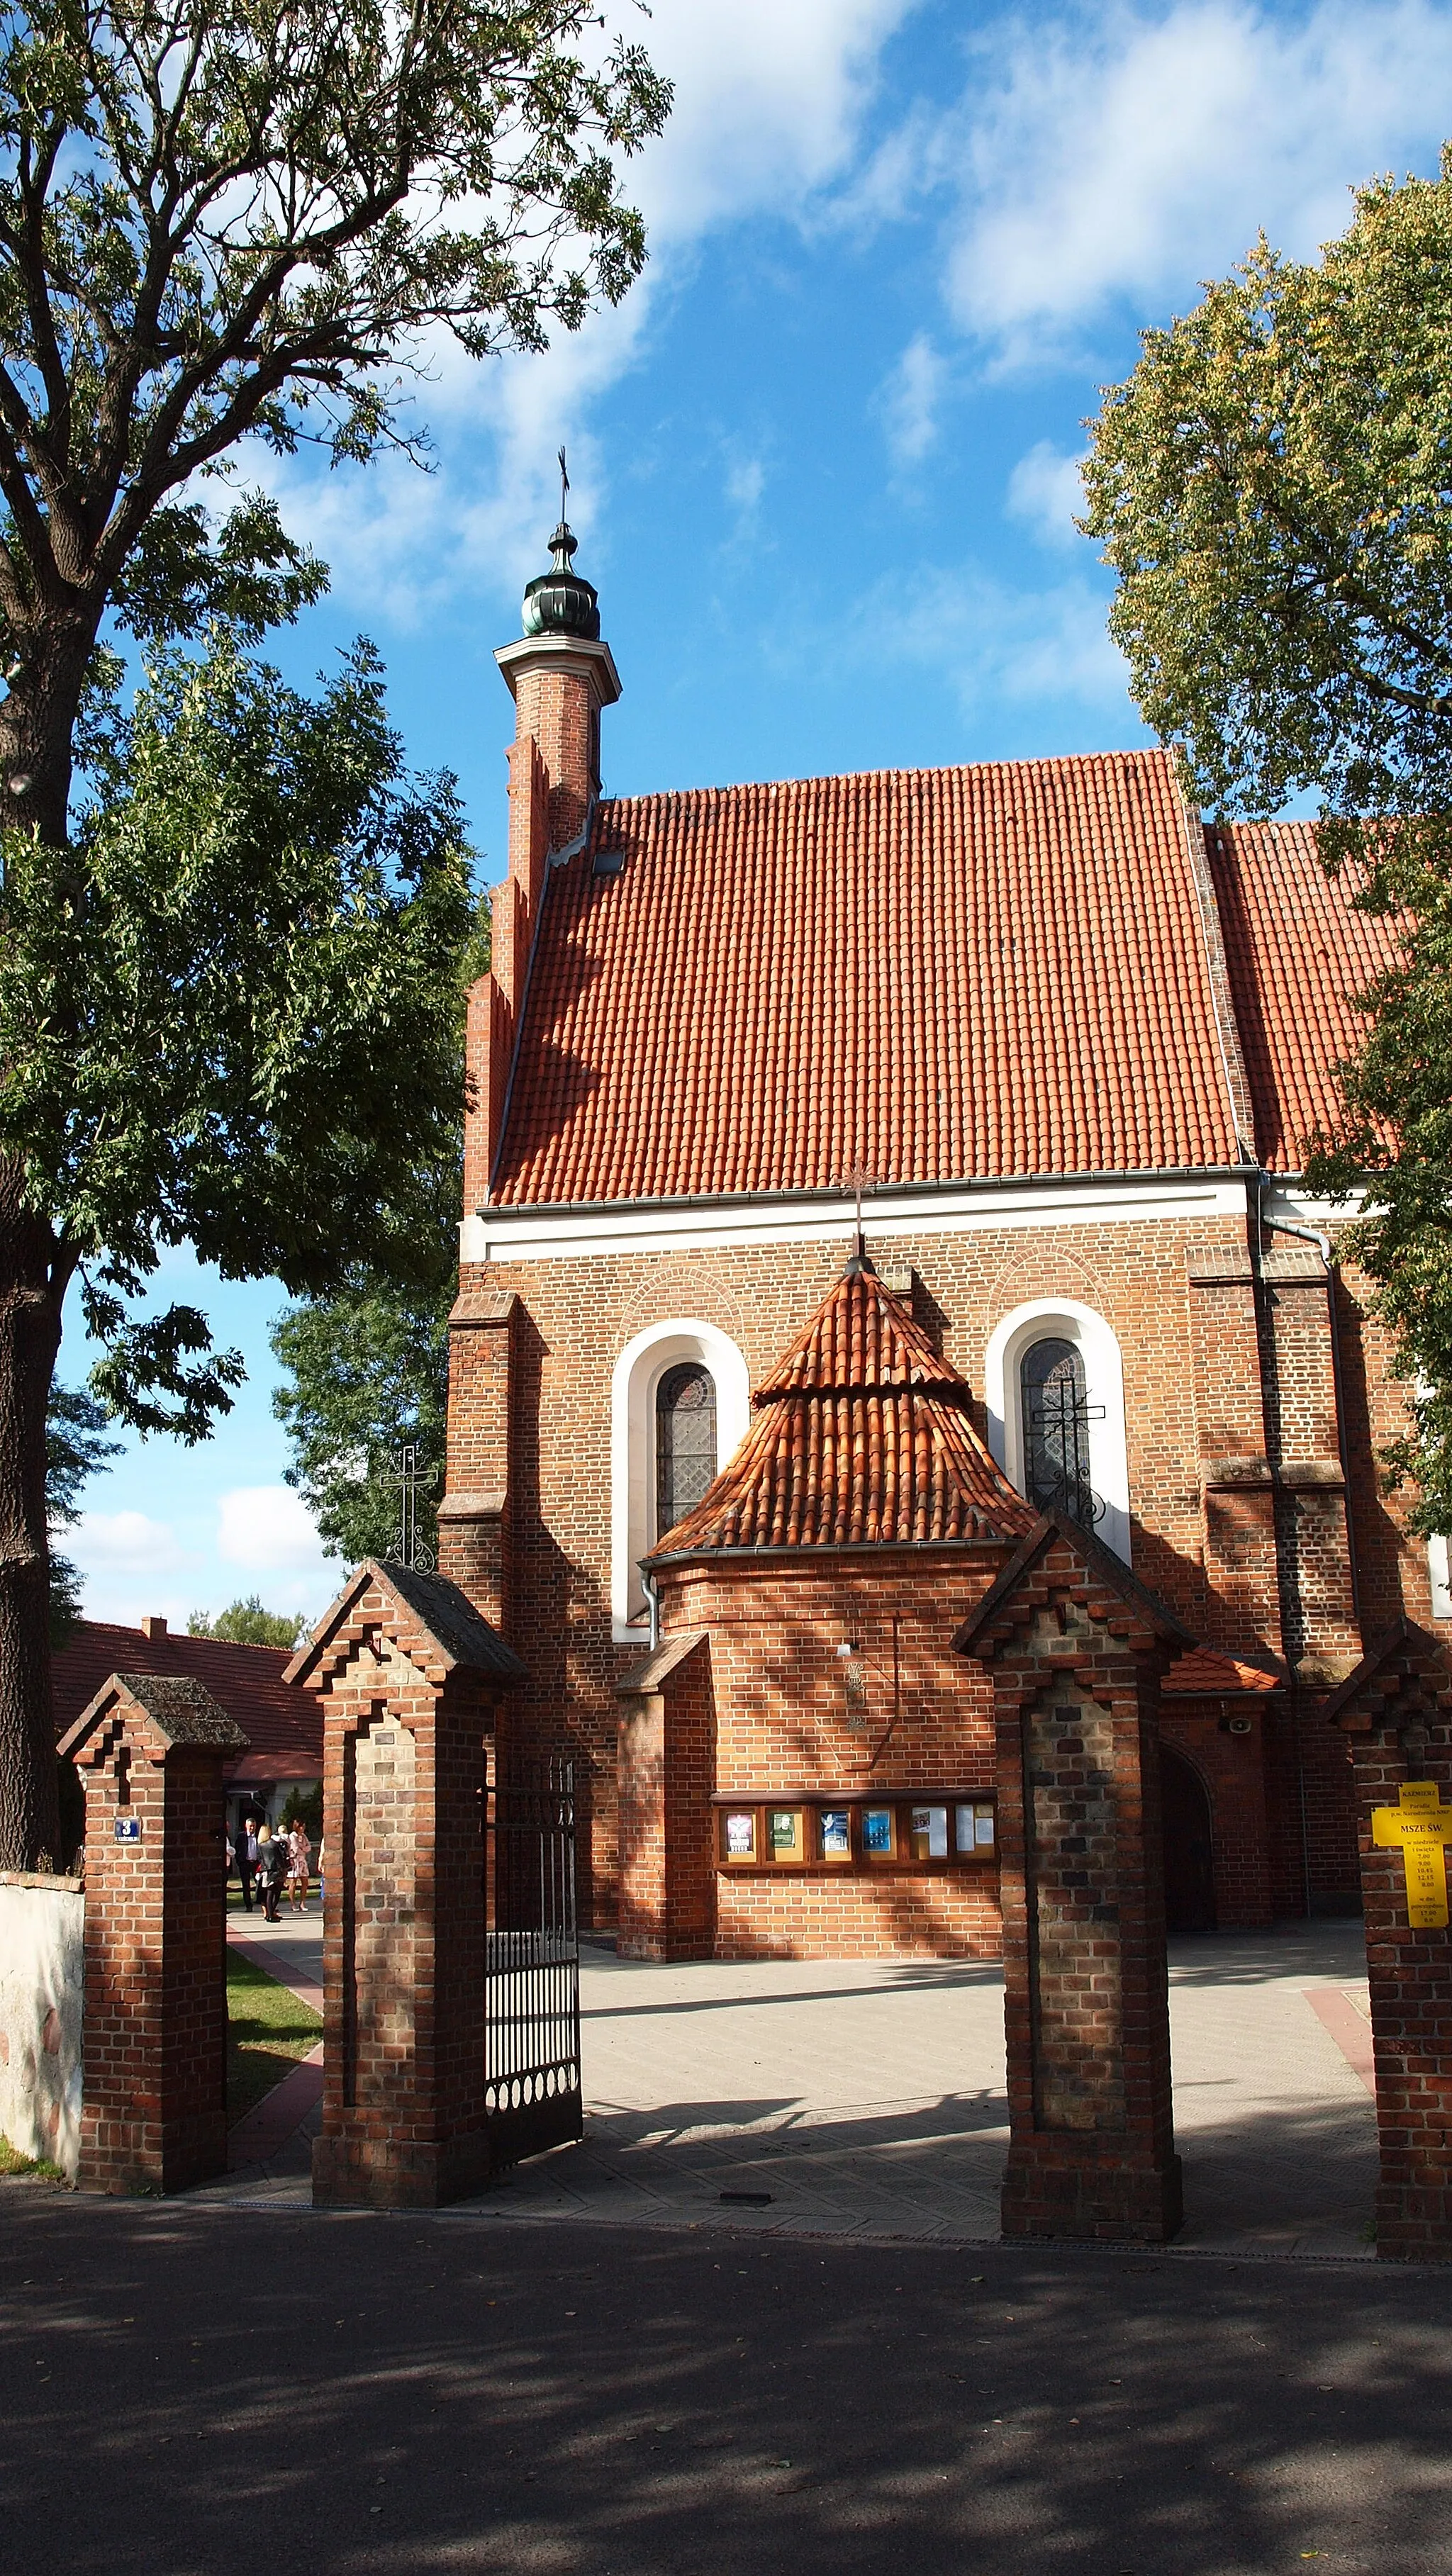
M 1452 1672 L 1439 1638 L 1395 1620 L 1326 1703 L 1352 1749 L 1377 2069 L 1377 2257 L 1452 2262 L 1452 1932 L 1408 1924 L 1403 1857 L 1372 1808 L 1403 1780 L 1452 1806 Z

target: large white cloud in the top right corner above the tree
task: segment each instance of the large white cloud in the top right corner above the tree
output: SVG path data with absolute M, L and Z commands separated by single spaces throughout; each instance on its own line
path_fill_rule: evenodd
M 875 188 L 958 193 L 955 319 L 1009 361 L 1074 343 L 1112 299 L 1159 309 L 1225 270 L 1264 224 L 1313 255 L 1349 185 L 1434 165 L 1452 90 L 1452 13 L 1431 0 L 1321 0 L 1269 18 L 1243 0 L 1001 21 L 963 100 L 917 111 Z

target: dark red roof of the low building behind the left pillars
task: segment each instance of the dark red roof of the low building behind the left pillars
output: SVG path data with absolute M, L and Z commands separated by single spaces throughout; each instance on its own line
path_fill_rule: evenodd
M 237 1721 L 250 1752 L 227 1765 L 229 1780 L 319 1780 L 322 1708 L 283 1682 L 281 1646 L 227 1646 L 216 1636 L 144 1636 L 80 1620 L 51 1664 L 57 1739 L 75 1726 L 113 1672 L 188 1674 Z

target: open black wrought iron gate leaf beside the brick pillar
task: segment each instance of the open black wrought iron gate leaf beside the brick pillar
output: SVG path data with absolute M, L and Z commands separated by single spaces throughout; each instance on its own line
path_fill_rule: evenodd
M 494 2169 L 584 2136 L 574 1765 L 512 1765 L 487 1793 L 484 2105 Z

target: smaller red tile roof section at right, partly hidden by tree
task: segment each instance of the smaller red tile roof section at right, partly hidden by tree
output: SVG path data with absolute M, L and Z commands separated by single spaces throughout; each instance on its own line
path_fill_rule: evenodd
M 1336 1064 L 1364 1038 L 1354 994 L 1395 956 L 1398 925 L 1354 909 L 1305 822 L 1207 829 L 1231 994 L 1267 1172 L 1300 1172 L 1339 1115 Z

